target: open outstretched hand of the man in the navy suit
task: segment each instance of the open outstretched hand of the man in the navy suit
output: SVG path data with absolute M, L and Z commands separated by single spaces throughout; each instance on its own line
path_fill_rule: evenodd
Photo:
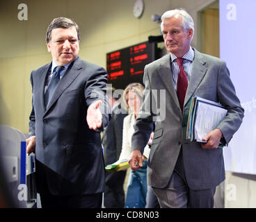
M 101 104 L 102 101 L 97 100 L 88 107 L 86 121 L 91 130 L 97 130 L 102 126 L 102 112 L 99 110 Z

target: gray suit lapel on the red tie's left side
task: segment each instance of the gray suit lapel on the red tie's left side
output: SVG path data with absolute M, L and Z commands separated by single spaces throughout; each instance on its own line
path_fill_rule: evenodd
M 175 104 L 179 107 L 179 100 L 177 97 L 177 93 L 175 91 L 175 87 L 173 84 L 173 78 L 172 73 L 170 69 L 170 55 L 163 57 L 163 60 L 161 61 L 161 64 L 159 66 L 159 76 L 161 80 L 163 81 L 163 84 L 166 85 L 166 89 L 168 89 L 168 92 L 173 97 L 173 101 L 175 101 Z

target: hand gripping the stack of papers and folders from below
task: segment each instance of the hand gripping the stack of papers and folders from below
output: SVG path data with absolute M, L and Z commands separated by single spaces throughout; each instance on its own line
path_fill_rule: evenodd
M 221 130 L 212 130 L 204 138 L 202 138 L 203 141 L 207 141 L 207 143 L 201 144 L 202 148 L 218 148 L 218 144 L 220 144 L 222 136 L 223 133 Z

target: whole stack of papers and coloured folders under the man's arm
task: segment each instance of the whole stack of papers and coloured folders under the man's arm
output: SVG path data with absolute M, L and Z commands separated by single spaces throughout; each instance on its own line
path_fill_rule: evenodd
M 226 114 L 227 110 L 220 103 L 194 96 L 189 109 L 186 139 L 205 142 L 202 138 L 214 130 Z

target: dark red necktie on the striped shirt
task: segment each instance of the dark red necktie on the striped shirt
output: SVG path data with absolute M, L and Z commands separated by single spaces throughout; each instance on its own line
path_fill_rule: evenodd
M 179 99 L 179 105 L 183 112 L 184 99 L 186 95 L 186 88 L 188 87 L 188 80 L 186 78 L 185 70 L 182 66 L 183 58 L 176 58 L 175 60 L 179 66 L 179 77 L 177 83 L 177 95 Z

